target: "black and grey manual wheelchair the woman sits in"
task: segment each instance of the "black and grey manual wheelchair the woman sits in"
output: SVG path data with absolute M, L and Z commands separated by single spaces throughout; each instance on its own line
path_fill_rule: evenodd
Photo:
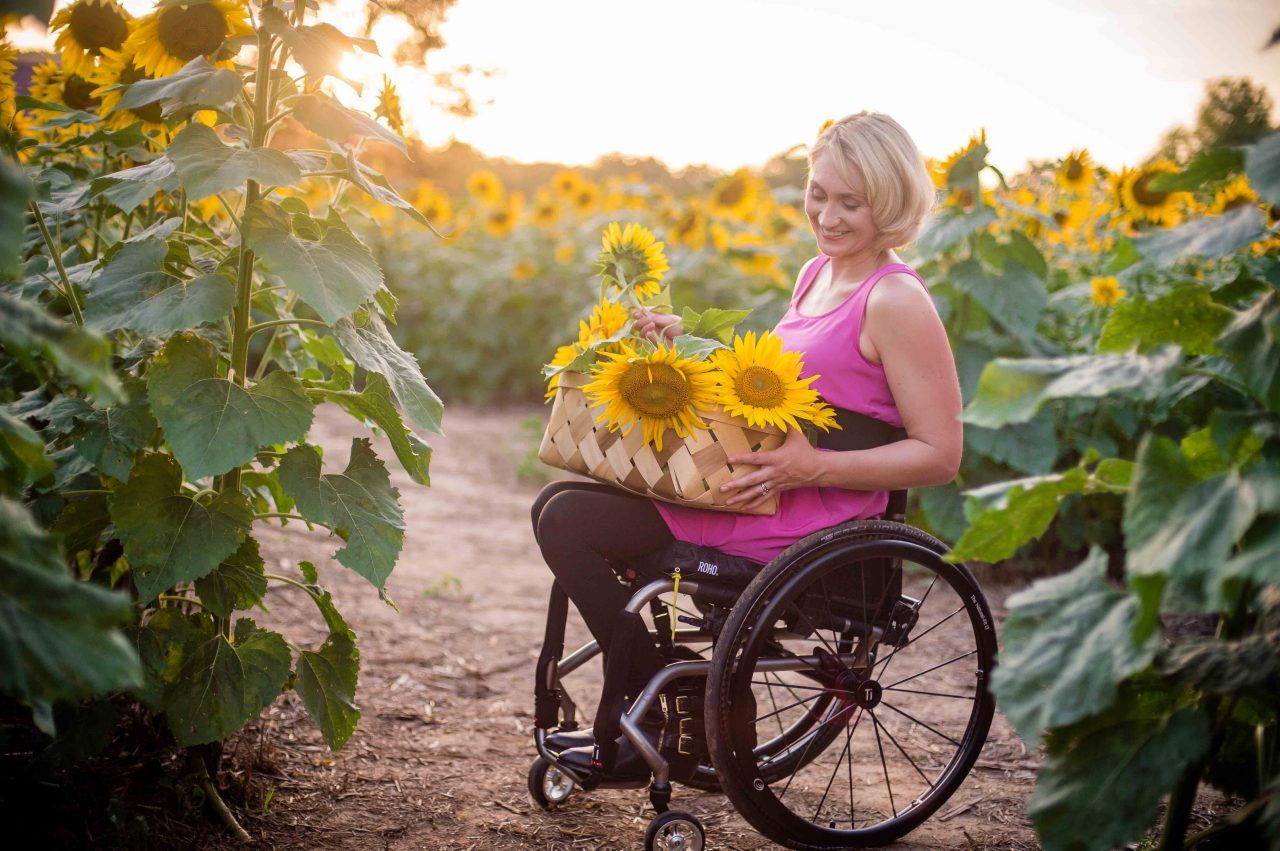
M 663 553 L 663 578 L 632 581 L 614 630 L 590 770 L 548 744 L 579 727 L 563 680 L 600 654 L 591 641 L 562 658 L 568 603 L 554 587 L 536 667 L 534 801 L 553 810 L 579 790 L 648 786 L 646 851 L 705 846 L 700 820 L 669 809 L 673 782 L 722 791 L 791 848 L 887 845 L 922 824 L 986 742 L 996 632 L 973 575 L 905 525 L 905 507 L 906 491 L 892 491 L 882 517 L 814 532 L 764 566 L 681 541 Z M 627 648 L 645 636 L 669 663 L 625 708 Z M 660 732 L 646 729 L 655 714 Z M 620 732 L 648 779 L 611 777 Z

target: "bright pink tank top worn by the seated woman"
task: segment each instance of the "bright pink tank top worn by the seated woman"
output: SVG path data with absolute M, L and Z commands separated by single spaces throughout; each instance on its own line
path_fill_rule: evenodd
M 902 417 L 893 404 L 884 370 L 863 357 L 858 338 L 867 314 L 867 297 L 876 282 L 899 271 L 913 275 L 922 287 L 924 282 L 910 266 L 888 264 L 872 273 L 838 307 L 820 316 L 801 316 L 796 305 L 828 260 L 831 257 L 819 255 L 809 264 L 791 296 L 786 315 L 773 331 L 782 338 L 783 348 L 804 352 L 804 371 L 800 378 L 817 372 L 819 378 L 812 386 L 828 403 L 901 426 Z M 782 491 L 778 511 L 773 516 L 733 514 L 658 500 L 654 500 L 654 507 L 678 540 L 768 562 L 795 541 L 820 529 L 883 514 L 887 503 L 887 490 L 796 488 Z

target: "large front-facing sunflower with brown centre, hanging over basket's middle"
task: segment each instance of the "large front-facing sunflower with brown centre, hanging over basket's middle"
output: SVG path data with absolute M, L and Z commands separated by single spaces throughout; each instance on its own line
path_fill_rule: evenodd
M 590 407 L 607 406 L 596 417 L 609 431 L 631 433 L 636 422 L 644 429 L 645 443 L 662 452 L 662 436 L 673 429 L 686 438 L 707 424 L 698 410 L 716 403 L 716 372 L 708 361 L 680 357 L 675 348 L 663 344 L 650 354 L 639 354 L 626 343 L 621 352 L 604 352 L 609 362 L 595 365 L 590 381 L 582 388 Z

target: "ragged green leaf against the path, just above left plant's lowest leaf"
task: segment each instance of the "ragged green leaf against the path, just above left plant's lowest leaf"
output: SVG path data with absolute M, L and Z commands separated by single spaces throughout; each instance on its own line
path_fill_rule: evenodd
M 346 532 L 338 561 L 381 590 L 404 544 L 404 512 L 369 440 L 351 441 L 342 473 L 321 473 L 315 447 L 293 447 L 280 461 L 280 484 L 302 517 Z

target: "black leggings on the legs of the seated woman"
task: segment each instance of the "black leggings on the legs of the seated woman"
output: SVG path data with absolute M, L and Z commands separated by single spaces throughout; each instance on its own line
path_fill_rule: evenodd
M 649 499 L 586 481 L 547 485 L 530 513 L 547 566 L 607 654 L 618 614 L 631 599 L 618 573 L 631 568 L 643 578 L 658 578 L 649 557 L 673 540 L 667 523 Z M 664 664 L 649 636 L 637 636 L 627 695 L 639 694 Z

